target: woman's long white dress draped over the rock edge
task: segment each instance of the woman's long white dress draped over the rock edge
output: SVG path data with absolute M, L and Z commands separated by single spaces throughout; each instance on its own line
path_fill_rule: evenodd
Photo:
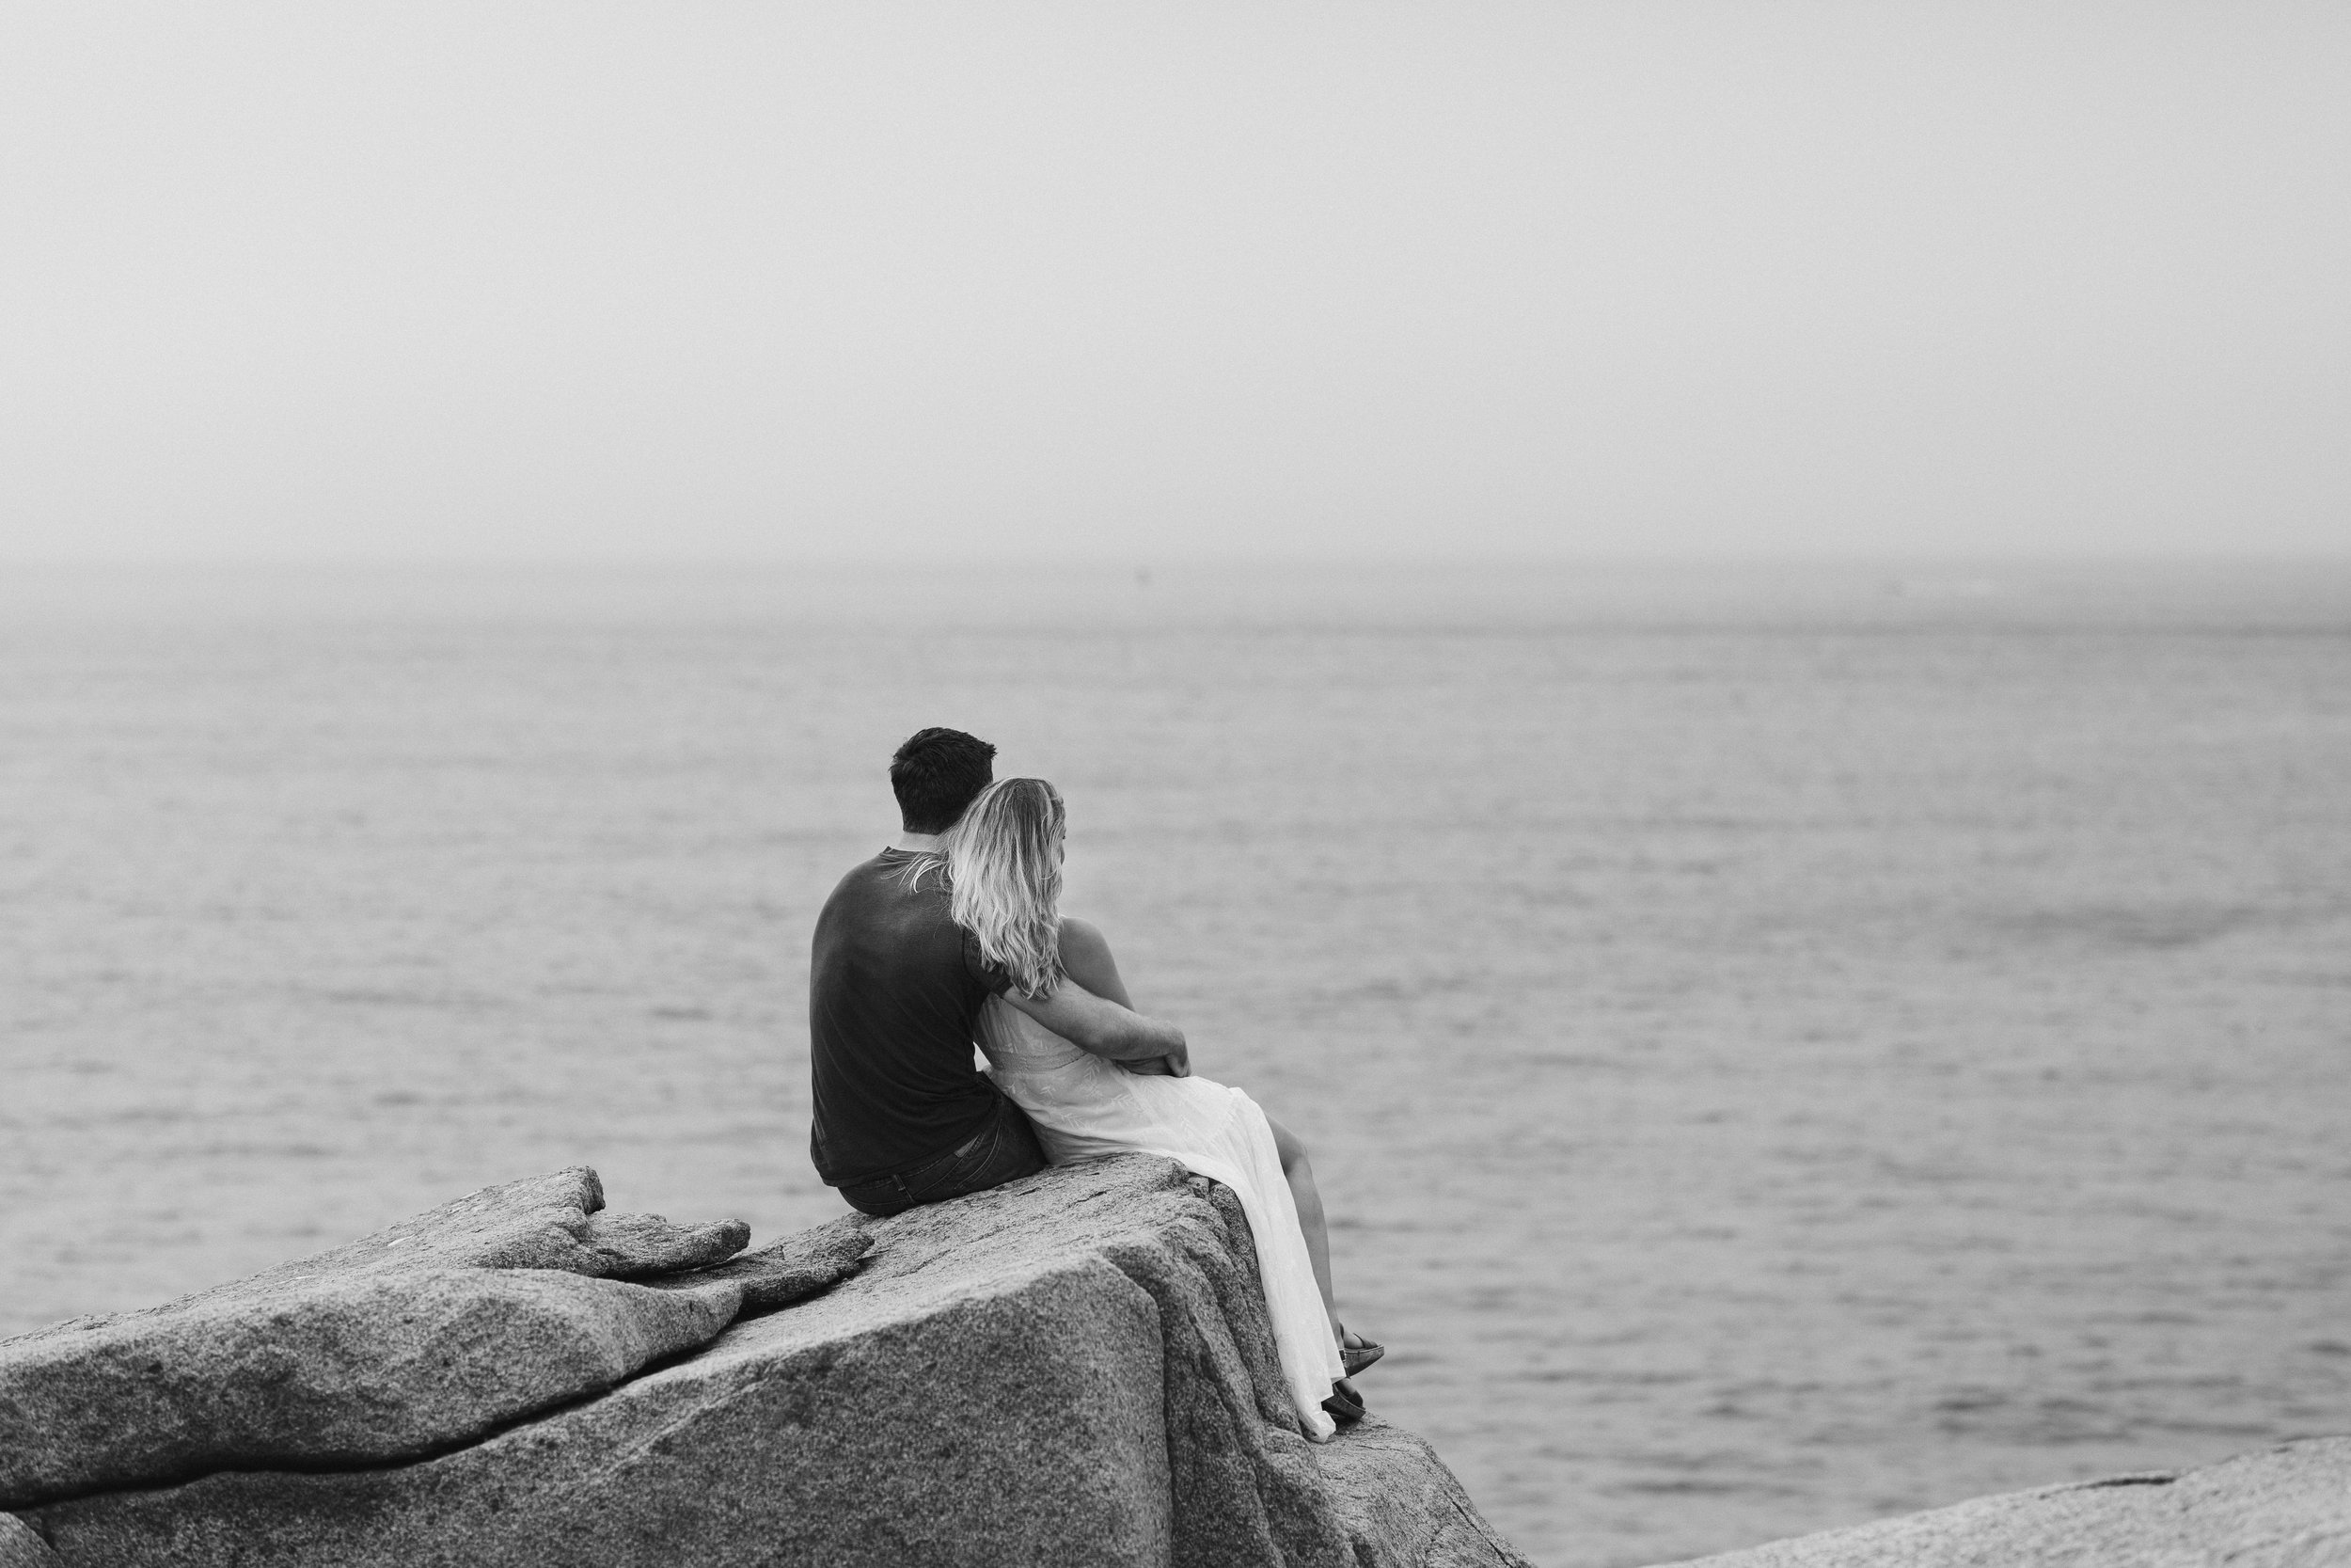
M 1241 1199 L 1258 1244 L 1258 1276 L 1281 1354 L 1281 1380 L 1307 1436 L 1335 1432 L 1321 1401 L 1347 1375 L 1331 1338 L 1298 1204 L 1281 1175 L 1274 1128 L 1239 1088 L 1208 1079 L 1126 1072 L 1051 1032 L 1002 997 L 980 1009 L 980 1051 L 997 1086 L 1037 1124 L 1046 1159 L 1065 1166 L 1103 1154 L 1166 1154 Z

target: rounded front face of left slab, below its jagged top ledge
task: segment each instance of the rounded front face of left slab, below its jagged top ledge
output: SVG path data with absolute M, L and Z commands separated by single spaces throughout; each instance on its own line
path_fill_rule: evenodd
M 734 1284 L 327 1274 L 0 1354 L 0 1507 L 212 1469 L 430 1453 L 708 1345 Z

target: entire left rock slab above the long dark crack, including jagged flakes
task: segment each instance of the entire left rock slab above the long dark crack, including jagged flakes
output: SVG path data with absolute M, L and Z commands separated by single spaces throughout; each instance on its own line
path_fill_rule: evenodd
M 741 1220 L 602 1204 L 595 1171 L 557 1171 L 165 1307 L 0 1340 L 0 1509 L 477 1441 L 708 1345 L 755 1293 L 764 1309 L 820 1291 L 863 1251 L 736 1279 L 712 1265 L 741 1253 Z M 668 1288 L 621 1279 L 658 1274 Z

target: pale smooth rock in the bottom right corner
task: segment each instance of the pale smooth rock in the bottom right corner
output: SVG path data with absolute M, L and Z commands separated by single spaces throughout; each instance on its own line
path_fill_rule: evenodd
M 1977 1497 L 1697 1561 L 1704 1568 L 2339 1568 L 2351 1563 L 2351 1436 L 2285 1443 L 2184 1474 Z

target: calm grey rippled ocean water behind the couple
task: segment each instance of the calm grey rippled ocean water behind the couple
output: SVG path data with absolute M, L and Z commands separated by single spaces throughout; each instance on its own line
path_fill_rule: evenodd
M 922 724 L 1540 1563 L 2351 1429 L 2344 564 L 19 571 L 0 1333 L 574 1161 L 839 1213 Z

